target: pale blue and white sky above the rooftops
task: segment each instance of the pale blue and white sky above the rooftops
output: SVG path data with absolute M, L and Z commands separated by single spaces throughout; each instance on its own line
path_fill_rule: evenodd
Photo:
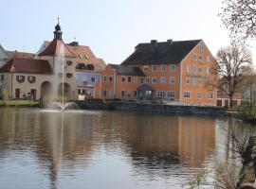
M 0 43 L 6 50 L 35 53 L 44 41 L 53 39 L 59 16 L 64 42 L 76 39 L 80 44 L 90 46 L 106 63 L 121 63 L 134 52 L 137 43 L 151 40 L 203 39 L 215 55 L 218 48 L 229 45 L 229 30 L 222 26 L 217 16 L 221 2 L 0 0 Z M 254 57 L 256 59 L 256 54 Z

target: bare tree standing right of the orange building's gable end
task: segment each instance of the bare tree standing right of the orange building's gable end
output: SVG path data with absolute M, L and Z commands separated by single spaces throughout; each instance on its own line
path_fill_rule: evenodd
M 233 96 L 241 89 L 243 78 L 251 70 L 251 53 L 241 43 L 231 43 L 217 52 L 216 74 L 220 77 L 219 89 L 229 95 L 229 106 L 233 106 Z

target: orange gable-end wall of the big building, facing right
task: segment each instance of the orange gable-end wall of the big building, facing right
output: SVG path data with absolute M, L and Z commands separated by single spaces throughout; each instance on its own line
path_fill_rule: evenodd
M 200 45 L 203 49 L 200 49 Z M 194 56 L 197 58 L 194 59 Z M 202 56 L 203 60 L 199 60 Z M 209 58 L 208 58 L 209 57 Z M 209 60 L 208 60 L 209 59 Z M 216 61 L 205 43 L 198 43 L 192 52 L 181 62 L 181 103 L 216 106 L 216 77 L 213 73 Z M 188 68 L 189 67 L 189 68 Z M 202 70 L 202 72 L 199 71 Z M 210 72 L 208 73 L 208 69 Z M 190 80 L 187 83 L 187 79 Z M 190 96 L 185 96 L 185 93 Z M 212 94 L 212 95 L 211 95 Z M 201 96 L 200 96 L 201 95 Z

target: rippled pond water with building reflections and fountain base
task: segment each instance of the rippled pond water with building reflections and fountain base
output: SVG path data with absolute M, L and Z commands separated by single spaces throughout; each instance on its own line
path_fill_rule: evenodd
M 229 159 L 229 120 L 0 109 L 0 188 L 188 188 Z

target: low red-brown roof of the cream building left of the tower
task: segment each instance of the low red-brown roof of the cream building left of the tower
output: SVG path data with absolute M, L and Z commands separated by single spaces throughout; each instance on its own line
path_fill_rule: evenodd
M 14 58 L 0 68 L 1 73 L 53 74 L 47 60 Z

